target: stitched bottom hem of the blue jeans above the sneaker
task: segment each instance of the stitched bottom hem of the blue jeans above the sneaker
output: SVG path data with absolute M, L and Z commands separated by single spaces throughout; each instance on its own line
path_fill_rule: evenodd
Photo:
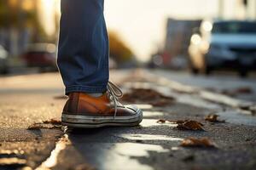
M 85 94 L 98 94 L 98 93 L 104 93 L 106 91 L 107 91 L 107 87 L 89 87 L 89 86 L 74 85 L 74 86 L 68 86 L 65 89 L 65 94 L 68 95 L 72 92 L 81 92 Z

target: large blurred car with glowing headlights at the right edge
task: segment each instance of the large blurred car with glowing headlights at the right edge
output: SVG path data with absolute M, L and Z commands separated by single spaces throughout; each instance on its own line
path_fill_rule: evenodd
M 189 63 L 193 73 L 233 69 L 242 77 L 256 69 L 256 22 L 204 21 L 191 37 Z

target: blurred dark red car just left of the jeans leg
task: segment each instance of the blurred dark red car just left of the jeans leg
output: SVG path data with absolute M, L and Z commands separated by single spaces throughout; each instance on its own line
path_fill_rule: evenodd
M 34 43 L 26 48 L 23 59 L 28 67 L 38 67 L 40 71 L 57 71 L 55 52 L 55 44 Z

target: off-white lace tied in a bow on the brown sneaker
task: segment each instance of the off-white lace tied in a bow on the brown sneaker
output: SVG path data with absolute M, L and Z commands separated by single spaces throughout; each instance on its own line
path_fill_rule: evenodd
M 119 98 L 121 98 L 123 96 L 123 92 L 113 82 L 108 82 L 107 89 L 108 89 L 108 98 L 113 100 L 113 105 L 114 105 L 113 119 L 115 119 L 115 117 L 117 115 L 117 108 L 118 108 L 118 104 L 119 104 Z

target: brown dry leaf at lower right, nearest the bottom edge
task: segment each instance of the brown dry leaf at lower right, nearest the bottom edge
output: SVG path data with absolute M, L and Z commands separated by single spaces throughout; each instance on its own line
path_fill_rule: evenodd
M 183 139 L 180 145 L 183 147 L 216 147 L 216 144 L 208 138 L 196 139 L 194 137 Z

